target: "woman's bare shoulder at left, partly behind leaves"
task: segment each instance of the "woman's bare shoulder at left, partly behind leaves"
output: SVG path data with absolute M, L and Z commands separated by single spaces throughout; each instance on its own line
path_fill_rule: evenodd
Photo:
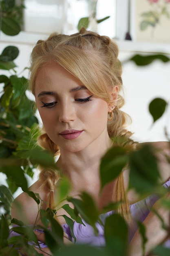
M 48 194 L 40 189 L 41 182 L 38 180 L 32 186 L 30 186 L 29 191 L 38 193 L 42 200 L 42 208 L 45 208 L 45 202 L 47 201 Z M 11 207 L 11 218 L 16 218 L 21 220 L 25 224 L 34 225 L 37 217 L 39 216 L 40 205 L 35 202 L 27 193 L 22 192 L 13 201 Z M 37 223 L 37 222 L 36 222 Z M 37 223 L 38 224 L 38 223 Z

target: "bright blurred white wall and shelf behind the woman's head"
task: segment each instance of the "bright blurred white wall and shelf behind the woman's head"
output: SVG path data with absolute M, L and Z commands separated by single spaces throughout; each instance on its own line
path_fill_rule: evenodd
M 164 0 L 160 0 L 163 4 Z M 17 2 L 17 1 L 15 1 Z M 17 46 L 19 55 L 15 60 L 18 73 L 29 66 L 29 56 L 33 45 L 46 38 L 51 32 L 66 34 L 77 32 L 81 18 L 90 17 L 88 29 L 98 31 L 116 40 L 119 46 L 119 59 L 123 65 L 123 83 L 126 104 L 124 111 L 132 117 L 130 129 L 138 141 L 167 140 L 164 129 L 170 131 L 170 110 L 152 125 L 148 111 L 149 103 L 156 97 L 170 100 L 170 62 L 159 60 L 147 66 L 137 66 L 127 61 L 136 53 L 162 52 L 170 54 L 170 41 L 137 39 L 137 9 L 139 2 L 146 2 L 149 8 L 157 3 L 144 0 L 24 0 L 22 31 L 16 36 L 0 32 L 0 51 L 7 45 Z M 160 4 L 159 2 L 159 4 Z M 168 2 L 168 1 L 164 1 Z M 138 5 L 137 5 L 138 4 Z M 169 4 L 169 3 L 168 3 Z M 167 8 L 169 8 L 167 4 Z M 169 4 L 170 5 L 170 4 Z M 108 17 L 97 23 L 96 20 Z M 168 20 L 168 19 L 167 19 Z M 128 37 L 127 37 L 128 33 Z M 167 33 L 168 34 L 168 33 Z M 127 40 L 130 39 L 131 40 Z M 5 74 L 0 70 L 0 74 Z M 23 72 L 27 76 L 28 70 Z

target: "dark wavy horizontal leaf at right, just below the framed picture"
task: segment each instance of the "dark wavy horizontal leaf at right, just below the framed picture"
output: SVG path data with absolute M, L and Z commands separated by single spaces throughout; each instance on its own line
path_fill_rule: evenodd
M 155 60 L 160 60 L 166 63 L 170 61 L 170 58 L 164 54 L 152 54 L 152 55 L 146 55 L 146 56 L 136 54 L 132 58 L 130 58 L 130 61 L 134 61 L 138 66 L 149 65 Z

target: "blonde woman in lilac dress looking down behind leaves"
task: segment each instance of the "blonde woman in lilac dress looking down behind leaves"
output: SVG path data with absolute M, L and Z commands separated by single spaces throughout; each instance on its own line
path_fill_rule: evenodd
M 71 182 L 70 195 L 86 191 L 99 208 L 110 201 L 123 201 L 119 212 L 130 226 L 137 220 L 148 221 L 148 216 L 151 216 L 149 207 L 157 198 L 150 196 L 137 202 L 134 193 L 126 193 L 128 170 L 106 185 L 102 194 L 99 193 L 101 157 L 115 146 L 113 141 L 123 137 L 126 143 L 121 146 L 129 150 L 139 147 L 130 138 L 132 133 L 126 129 L 130 118 L 121 111 L 124 98 L 121 64 L 117 57 L 118 48 L 113 40 L 84 28 L 71 36 L 51 34 L 47 40 L 39 40 L 33 48 L 30 87 L 44 125 L 38 144 L 52 152 L 54 157 L 59 157 L 57 165 L 60 171 L 42 169 L 39 180 L 30 190 L 39 193 L 40 198 L 47 202 L 42 205 L 42 209 L 53 209 L 57 200 L 58 180 L 63 173 Z M 156 142 L 155 147 L 169 154 L 167 142 Z M 170 186 L 168 163 L 161 153 L 159 159 L 162 182 L 164 186 Z M 24 215 L 16 207 L 18 202 Z M 42 225 L 37 204 L 26 193 L 15 199 L 11 214 L 12 218 L 22 220 L 26 225 Z M 64 209 L 57 212 L 58 216 L 63 214 L 66 214 Z M 113 212 L 106 213 L 104 218 L 110 214 Z M 57 220 L 64 229 L 64 241 L 72 243 L 73 238 L 65 219 L 58 217 Z M 100 225 L 97 227 L 99 236 L 94 234 L 89 225 L 84 227 L 74 222 L 76 243 L 104 246 L 104 230 Z M 139 245 L 139 235 L 135 234 L 137 226 L 130 230 L 129 240 L 133 238 L 134 245 Z M 39 240 L 44 241 L 40 231 L 35 233 Z M 162 237 L 163 234 L 157 238 L 157 243 Z M 148 244 L 148 249 L 150 246 L 152 243 Z M 43 244 L 43 247 L 46 245 Z M 134 254 L 133 249 L 132 245 L 131 255 L 141 255 L 141 247 L 138 246 L 139 252 L 135 251 Z M 49 249 L 44 248 L 43 251 L 46 255 Z

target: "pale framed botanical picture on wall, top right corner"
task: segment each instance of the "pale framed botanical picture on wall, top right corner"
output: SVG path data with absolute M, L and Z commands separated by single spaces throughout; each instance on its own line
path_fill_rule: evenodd
M 131 0 L 130 7 L 133 40 L 170 43 L 170 0 Z

